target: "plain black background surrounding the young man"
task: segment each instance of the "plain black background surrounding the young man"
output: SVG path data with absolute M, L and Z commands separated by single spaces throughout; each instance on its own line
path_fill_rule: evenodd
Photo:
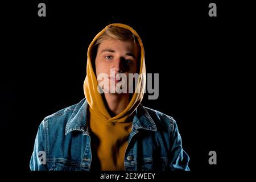
M 141 36 L 147 73 L 159 73 L 159 98 L 142 104 L 177 121 L 193 172 L 225 171 L 233 160 L 230 135 L 236 44 L 246 22 L 232 3 L 211 1 L 50 2 L 2 6 L 1 158 L 5 169 L 29 171 L 35 135 L 49 114 L 84 98 L 86 52 L 110 23 L 126 23 Z M 242 8 L 242 6 L 241 6 Z M 243 35 L 242 37 L 240 35 Z M 232 138 L 232 139 L 231 139 Z M 217 152 L 209 165 L 208 152 Z M 231 154 L 230 154 L 231 153 Z

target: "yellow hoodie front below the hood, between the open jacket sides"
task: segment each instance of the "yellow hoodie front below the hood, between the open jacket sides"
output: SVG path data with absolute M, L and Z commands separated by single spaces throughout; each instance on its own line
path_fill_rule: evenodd
M 125 169 L 123 159 L 132 125 L 131 120 L 126 122 L 99 121 L 91 114 L 90 130 L 93 133 L 91 147 L 92 152 L 97 154 L 92 157 L 92 163 L 95 165 L 96 160 L 99 160 L 100 169 L 103 171 L 123 171 Z M 95 157 L 98 159 L 95 160 Z

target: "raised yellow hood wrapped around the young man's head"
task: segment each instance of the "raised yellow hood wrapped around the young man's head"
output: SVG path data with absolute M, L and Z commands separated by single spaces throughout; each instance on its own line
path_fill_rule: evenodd
M 131 98 L 129 105 L 127 105 L 126 109 L 123 110 L 120 114 L 115 115 L 114 117 L 111 117 L 110 114 L 108 113 L 108 110 L 105 107 L 104 101 L 102 99 L 102 96 L 100 93 L 98 93 L 98 81 L 96 74 L 93 71 L 92 67 L 92 62 L 91 62 L 91 51 L 94 42 L 106 31 L 106 28 L 109 26 L 117 26 L 117 27 L 122 27 L 126 28 L 127 30 L 130 30 L 133 32 L 133 34 L 137 37 L 139 45 L 141 46 L 141 67 L 139 69 L 139 75 L 142 76 L 139 77 L 138 79 L 138 84 L 135 89 L 135 93 L 133 94 L 133 97 Z M 138 105 L 141 103 L 143 94 L 144 94 L 144 89 L 146 86 L 146 68 L 145 68 L 145 61 L 144 61 L 144 48 L 142 44 L 142 40 L 137 34 L 133 28 L 130 26 L 127 26 L 126 24 L 121 24 L 121 23 L 114 23 L 114 24 L 109 24 L 106 26 L 101 32 L 99 32 L 95 38 L 93 39 L 92 43 L 90 43 L 90 46 L 88 48 L 87 52 L 87 67 L 86 67 L 86 77 L 84 81 L 84 94 L 85 98 L 90 106 L 90 113 L 93 115 L 97 115 L 97 117 L 101 120 L 104 121 L 111 121 L 111 122 L 125 122 L 127 120 L 127 117 L 129 117 L 135 109 L 138 107 Z

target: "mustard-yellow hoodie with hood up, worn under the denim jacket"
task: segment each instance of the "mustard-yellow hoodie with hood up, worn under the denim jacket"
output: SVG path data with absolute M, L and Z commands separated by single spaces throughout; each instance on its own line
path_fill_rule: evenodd
M 139 77 L 135 93 L 133 94 L 129 105 L 127 105 L 125 110 L 114 117 L 110 116 L 101 94 L 98 93 L 98 81 L 91 62 L 93 44 L 102 34 L 104 34 L 106 28 L 109 26 L 126 28 L 133 32 L 137 37 L 139 45 L 141 46 L 141 67 L 139 69 L 139 74 L 141 75 L 143 73 L 142 76 Z M 84 81 L 84 93 L 90 111 L 89 127 L 91 131 L 92 148 L 91 168 L 93 169 L 95 167 L 101 170 L 124 170 L 124 156 L 133 123 L 132 114 L 142 101 L 146 85 L 146 68 L 142 40 L 137 32 L 126 24 L 109 24 L 99 32 L 92 43 L 90 43 L 87 57 L 87 75 Z

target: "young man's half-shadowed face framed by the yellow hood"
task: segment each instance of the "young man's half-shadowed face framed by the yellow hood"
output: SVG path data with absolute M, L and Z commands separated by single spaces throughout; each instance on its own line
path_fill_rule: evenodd
M 101 73 L 108 75 L 109 88 L 110 82 L 115 86 L 122 80 L 122 78 L 119 80 L 118 73 L 125 74 L 128 79 L 129 73 L 137 73 L 138 53 L 138 46 L 132 41 L 105 39 L 97 50 L 95 60 L 97 78 Z

